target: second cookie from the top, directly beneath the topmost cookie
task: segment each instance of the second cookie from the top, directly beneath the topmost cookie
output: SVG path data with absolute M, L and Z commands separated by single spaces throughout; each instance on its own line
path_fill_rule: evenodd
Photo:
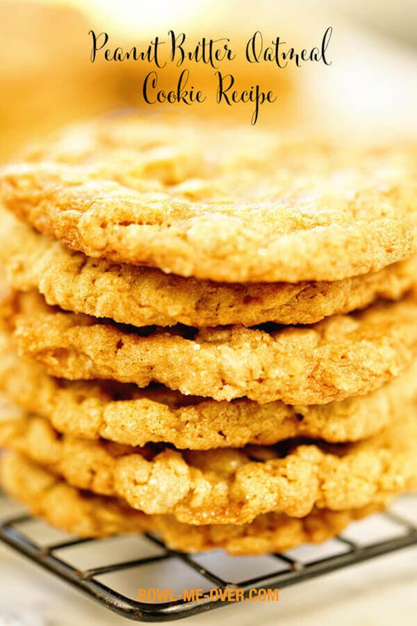
M 49 305 L 132 326 L 307 324 L 398 300 L 416 282 L 417 256 L 336 282 L 230 284 L 90 259 L 0 209 L 0 262 L 16 289 L 38 289 Z

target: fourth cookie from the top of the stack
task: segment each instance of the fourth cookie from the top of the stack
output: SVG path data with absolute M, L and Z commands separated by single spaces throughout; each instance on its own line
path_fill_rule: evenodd
M 204 400 L 160 385 L 140 390 L 108 381 L 58 380 L 35 360 L 19 358 L 2 330 L 0 353 L 0 389 L 14 403 L 47 418 L 60 433 L 131 446 L 167 442 L 205 450 L 272 445 L 297 436 L 357 441 L 400 419 L 403 403 L 417 394 L 417 361 L 406 374 L 366 396 L 289 406 L 281 401 Z

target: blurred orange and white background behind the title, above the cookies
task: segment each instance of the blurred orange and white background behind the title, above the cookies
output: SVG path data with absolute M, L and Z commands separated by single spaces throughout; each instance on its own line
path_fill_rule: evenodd
M 256 30 L 265 40 L 280 35 L 296 48 L 319 45 L 333 27 L 332 65 L 306 63 L 280 70 L 273 63 L 248 64 L 245 42 Z M 272 88 L 278 98 L 264 105 L 259 125 L 294 123 L 319 131 L 409 137 L 417 131 L 417 3 L 415 0 L 0 0 L 0 159 L 13 158 L 28 139 L 73 120 L 143 103 L 145 73 L 138 61 L 90 63 L 88 31 L 106 31 L 111 44 L 141 47 L 169 29 L 191 42 L 202 35 L 227 36 L 240 51 L 223 66 L 236 85 Z M 213 91 L 211 67 L 190 67 L 198 87 Z M 160 84 L 177 82 L 177 67 L 160 70 Z M 166 108 L 166 105 L 164 105 Z M 188 108 L 199 115 L 241 119 L 250 127 L 251 107 L 215 104 Z M 172 106 L 170 106 L 172 109 Z

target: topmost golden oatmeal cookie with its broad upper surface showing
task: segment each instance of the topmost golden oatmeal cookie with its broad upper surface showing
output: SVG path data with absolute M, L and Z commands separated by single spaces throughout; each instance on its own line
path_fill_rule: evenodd
M 341 280 L 417 250 L 416 164 L 414 147 L 136 116 L 33 148 L 0 193 L 90 257 L 222 282 Z

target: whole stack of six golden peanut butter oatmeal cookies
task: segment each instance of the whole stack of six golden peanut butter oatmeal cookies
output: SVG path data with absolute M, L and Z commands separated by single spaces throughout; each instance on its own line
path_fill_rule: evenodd
M 155 115 L 3 168 L 3 488 L 232 554 L 417 488 L 416 165 Z

